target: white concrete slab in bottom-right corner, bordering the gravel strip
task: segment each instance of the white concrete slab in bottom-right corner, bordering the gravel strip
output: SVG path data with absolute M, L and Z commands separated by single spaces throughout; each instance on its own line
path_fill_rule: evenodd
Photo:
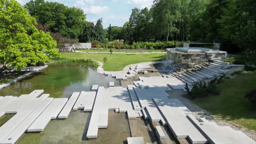
M 188 117 L 197 126 L 197 128 L 199 128 L 202 133 L 207 136 L 210 143 L 256 143 L 241 131 L 235 131 L 230 127 L 219 127 L 214 122 L 199 122 L 193 115 L 188 115 Z

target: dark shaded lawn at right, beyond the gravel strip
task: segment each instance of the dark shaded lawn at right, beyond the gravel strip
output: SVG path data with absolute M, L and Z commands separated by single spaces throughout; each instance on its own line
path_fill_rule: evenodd
M 256 72 L 225 79 L 218 85 L 219 96 L 194 100 L 194 103 L 219 118 L 256 130 L 256 110 L 245 99 L 247 92 L 256 89 Z

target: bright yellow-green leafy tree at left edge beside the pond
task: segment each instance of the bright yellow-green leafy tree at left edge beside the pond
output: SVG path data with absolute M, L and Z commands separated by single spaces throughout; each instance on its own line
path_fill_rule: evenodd
M 0 63 L 3 68 L 24 69 L 44 63 L 49 56 L 60 57 L 56 41 L 38 30 L 36 19 L 14 1 L 0 1 Z M 3 69 L 2 68 L 2 69 Z

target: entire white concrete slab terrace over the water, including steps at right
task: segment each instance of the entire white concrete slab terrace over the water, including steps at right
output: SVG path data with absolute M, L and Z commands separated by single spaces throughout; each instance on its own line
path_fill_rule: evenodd
M 230 65 L 213 61 L 193 69 L 150 76 L 152 74 L 145 70 L 154 71 L 151 64 L 127 68 L 122 77 L 133 74 L 131 79 L 137 79 L 133 81 L 135 85 L 107 88 L 94 85 L 91 92 L 74 92 L 69 98 L 58 99 L 48 98 L 49 94 L 43 94 L 43 90 L 20 97 L 0 97 L 1 116 L 15 113 L 0 127 L 0 143 L 15 143 L 25 131 L 43 131 L 51 119 L 65 119 L 71 110 L 78 109 L 91 112 L 86 131 L 88 139 L 96 139 L 98 129 L 108 128 L 108 111 L 114 110 L 127 113 L 128 119 L 148 119 L 161 143 L 255 143 L 241 131 L 220 127 L 205 118 L 196 119 L 188 107 L 167 94 L 174 89 L 184 90 L 185 83 L 191 86 L 196 81 L 226 74 L 228 70 L 225 69 Z M 144 143 L 144 139 L 127 137 L 127 142 Z

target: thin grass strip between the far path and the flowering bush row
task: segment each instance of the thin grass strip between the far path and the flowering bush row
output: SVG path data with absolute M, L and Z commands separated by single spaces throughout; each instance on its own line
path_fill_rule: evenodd
M 83 52 L 109 52 L 109 50 L 100 50 L 100 49 L 86 49 L 86 50 L 78 50 Z M 114 49 L 113 52 L 133 52 L 133 53 L 144 53 L 144 52 L 162 52 L 162 50 L 118 50 Z

